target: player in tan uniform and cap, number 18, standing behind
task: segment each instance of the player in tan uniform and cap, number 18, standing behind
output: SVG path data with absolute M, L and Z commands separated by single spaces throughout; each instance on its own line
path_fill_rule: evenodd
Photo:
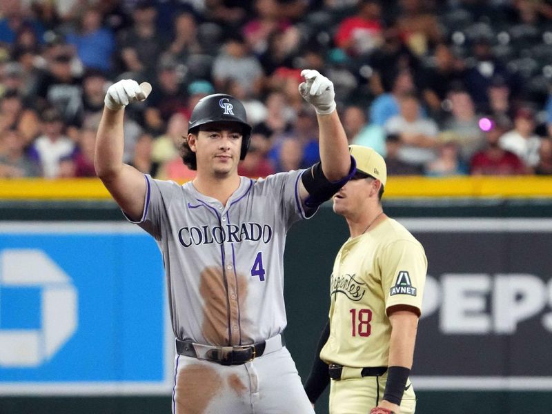
M 331 414 L 411 414 L 416 398 L 408 377 L 427 259 L 420 242 L 383 211 L 384 159 L 372 148 L 349 149 L 357 172 L 333 197 L 333 210 L 351 237 L 335 258 L 329 322 L 305 388 L 314 403 L 331 381 Z

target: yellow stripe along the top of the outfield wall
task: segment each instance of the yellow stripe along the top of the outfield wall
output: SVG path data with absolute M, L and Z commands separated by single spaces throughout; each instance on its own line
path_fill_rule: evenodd
M 384 198 L 552 197 L 552 177 L 390 177 Z M 109 199 L 96 178 L 0 179 L 0 199 Z

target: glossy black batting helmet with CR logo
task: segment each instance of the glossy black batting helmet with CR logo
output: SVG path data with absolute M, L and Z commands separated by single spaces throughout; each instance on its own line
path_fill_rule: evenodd
M 197 133 L 197 128 L 201 125 L 217 121 L 237 122 L 242 126 L 242 152 L 239 159 L 244 159 L 249 148 L 251 126 L 247 123 L 243 103 L 231 95 L 215 93 L 199 99 L 190 116 L 188 134 Z

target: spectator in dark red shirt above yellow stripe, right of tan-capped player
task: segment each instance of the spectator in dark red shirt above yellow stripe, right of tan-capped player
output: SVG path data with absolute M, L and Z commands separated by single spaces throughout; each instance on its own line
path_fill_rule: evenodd
M 471 175 L 522 175 L 528 172 L 523 161 L 513 152 L 504 150 L 498 145 L 500 136 L 507 126 L 488 119 L 482 125 L 485 131 L 486 148 L 476 152 L 471 159 Z M 484 121 L 485 122 L 485 121 Z

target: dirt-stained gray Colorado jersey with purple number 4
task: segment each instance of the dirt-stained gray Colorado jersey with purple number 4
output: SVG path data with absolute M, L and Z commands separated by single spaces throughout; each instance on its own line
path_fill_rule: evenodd
M 251 344 L 281 333 L 288 228 L 313 215 L 299 199 L 302 170 L 240 177 L 226 206 L 146 175 L 139 226 L 155 237 L 179 339 L 217 346 Z

